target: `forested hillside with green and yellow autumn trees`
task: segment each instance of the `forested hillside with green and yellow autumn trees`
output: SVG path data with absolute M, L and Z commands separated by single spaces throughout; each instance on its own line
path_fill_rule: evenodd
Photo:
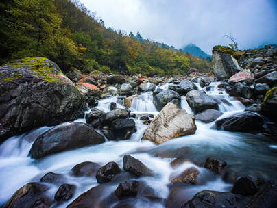
M 0 12 L 0 64 L 43 56 L 64 71 L 75 66 L 84 73 L 143 75 L 184 74 L 191 67 L 206 72 L 210 66 L 189 53 L 106 28 L 80 1 L 2 0 Z

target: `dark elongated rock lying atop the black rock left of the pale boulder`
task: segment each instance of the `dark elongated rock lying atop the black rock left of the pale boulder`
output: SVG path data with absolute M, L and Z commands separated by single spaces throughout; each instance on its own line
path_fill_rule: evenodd
M 106 114 L 103 114 L 99 118 L 99 122 L 101 123 L 101 126 L 110 125 L 112 120 L 116 120 L 118 118 L 127 118 L 130 116 L 130 111 L 125 109 L 114 109 Z

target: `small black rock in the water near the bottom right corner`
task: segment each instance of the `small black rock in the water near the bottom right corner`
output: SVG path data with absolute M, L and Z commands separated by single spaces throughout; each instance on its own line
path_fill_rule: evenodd
M 258 186 L 253 177 L 241 177 L 235 183 L 232 188 L 233 194 L 241 194 L 243 196 L 251 196 L 258 192 Z

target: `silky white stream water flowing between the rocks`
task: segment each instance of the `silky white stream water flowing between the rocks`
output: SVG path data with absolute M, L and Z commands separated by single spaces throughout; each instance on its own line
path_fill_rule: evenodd
M 220 91 L 217 85 L 218 83 L 211 83 L 208 90 L 202 89 L 200 86 L 198 88 L 221 101 L 219 110 L 224 114 L 220 118 L 231 116 L 236 112 L 243 112 L 245 106 L 232 99 L 226 92 Z M 167 89 L 168 84 L 156 88 Z M 117 107 L 124 108 L 121 100 L 115 96 L 100 100 L 97 108 L 108 112 L 111 102 L 117 103 Z M 186 109 L 186 112 L 193 114 L 185 97 L 182 97 L 180 106 Z M 158 114 L 151 92 L 136 96 L 130 109 L 132 113 L 136 114 L 153 114 L 154 116 Z M 67 207 L 77 196 L 91 187 L 99 185 L 95 177 L 71 176 L 69 171 L 73 166 L 83 161 L 93 161 L 101 165 L 115 161 L 122 168 L 122 159 L 125 154 L 136 157 L 154 171 L 154 177 L 140 177 L 136 180 L 147 183 L 160 198 L 169 196 L 170 177 L 180 174 L 187 168 L 197 168 L 200 172 L 197 184 L 180 187 L 180 192 L 184 194 L 180 198 L 176 195 L 176 205 L 178 205 L 178 200 L 182 200 L 182 202 L 189 200 L 201 190 L 231 190 L 231 183 L 225 182 L 210 170 L 202 168 L 207 157 L 226 161 L 232 170 L 240 175 L 254 174 L 265 179 L 277 179 L 277 160 L 276 153 L 274 153 L 276 146 L 267 142 L 263 135 L 218 131 L 214 129 L 214 122 L 204 124 L 196 121 L 197 131 L 194 135 L 182 136 L 156 145 L 147 140 L 141 141 L 147 125 L 143 125 L 139 119 L 134 118 L 134 120 L 137 131 L 133 133 L 130 140 L 118 142 L 107 140 L 104 144 L 56 153 L 38 160 L 28 157 L 29 149 L 34 139 L 51 127 L 40 127 L 23 135 L 9 138 L 0 146 L 0 206 L 26 183 L 37 182 L 47 172 L 55 172 L 65 174 L 67 183 L 77 186 L 77 191 L 71 200 L 52 206 Z M 85 122 L 85 120 L 79 119 L 77 122 Z M 170 163 L 176 157 L 187 159 L 187 161 L 173 168 Z M 105 192 L 106 196 L 113 192 L 117 185 L 118 183 L 110 185 Z M 57 189 L 58 187 L 53 185 L 49 194 L 53 196 Z M 133 200 L 132 204 L 136 207 L 164 207 L 158 201 L 135 198 Z

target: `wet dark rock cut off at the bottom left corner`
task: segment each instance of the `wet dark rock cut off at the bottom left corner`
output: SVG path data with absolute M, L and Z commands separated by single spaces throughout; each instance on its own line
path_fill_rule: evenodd
M 17 190 L 3 208 L 48 208 L 53 200 L 47 196 L 47 185 L 27 183 Z

